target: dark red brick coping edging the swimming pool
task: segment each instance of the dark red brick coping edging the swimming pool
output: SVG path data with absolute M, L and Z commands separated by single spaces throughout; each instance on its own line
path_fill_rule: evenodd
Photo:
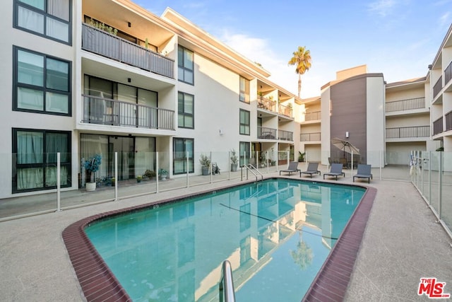
M 330 183 L 330 182 L 328 182 Z M 344 184 L 340 184 L 344 185 Z M 355 185 L 357 187 L 357 185 Z M 367 219 L 376 197 L 374 187 L 364 187 L 366 192 L 359 202 L 343 233 L 335 243 L 326 261 L 316 275 L 303 301 L 343 301 L 352 275 Z M 227 189 L 229 187 L 225 187 Z M 222 190 L 216 189 L 216 191 Z M 64 229 L 62 237 L 85 298 L 88 301 L 132 301 L 107 264 L 102 260 L 88 236 L 85 227 L 97 219 L 153 207 L 155 204 L 177 202 L 210 191 L 187 194 L 176 199 L 165 199 L 151 204 L 107 211 L 72 223 Z

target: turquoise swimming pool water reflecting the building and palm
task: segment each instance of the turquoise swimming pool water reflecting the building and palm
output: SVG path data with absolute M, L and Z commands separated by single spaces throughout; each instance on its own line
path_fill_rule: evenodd
M 273 179 L 91 223 L 85 232 L 133 301 L 300 301 L 365 190 Z

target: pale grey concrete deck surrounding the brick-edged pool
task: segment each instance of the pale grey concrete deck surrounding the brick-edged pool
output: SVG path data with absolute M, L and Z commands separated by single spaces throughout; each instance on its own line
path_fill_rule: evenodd
M 352 183 L 352 177 L 348 173 L 332 182 Z M 0 222 L 1 300 L 85 301 L 61 237 L 64 228 L 93 214 L 238 183 L 242 182 L 215 182 Z M 376 179 L 370 186 L 378 191 L 345 301 L 428 301 L 417 295 L 421 277 L 446 282 L 444 292 L 452 294 L 451 238 L 415 187 L 410 182 Z M 87 196 L 101 199 L 102 192 L 98 194 Z

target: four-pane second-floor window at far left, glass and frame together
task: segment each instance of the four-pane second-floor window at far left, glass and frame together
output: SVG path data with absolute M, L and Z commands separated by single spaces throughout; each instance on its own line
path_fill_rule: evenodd
M 71 115 L 71 64 L 14 47 L 14 98 L 17 111 Z

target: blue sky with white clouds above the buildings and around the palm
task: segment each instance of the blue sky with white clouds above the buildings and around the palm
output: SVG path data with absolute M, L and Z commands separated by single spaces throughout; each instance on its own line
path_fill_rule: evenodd
M 362 64 L 388 83 L 425 76 L 452 23 L 452 0 L 132 1 L 157 16 L 174 9 L 295 95 L 298 78 L 287 62 L 305 46 L 312 66 L 302 98 L 320 95 L 336 71 Z

